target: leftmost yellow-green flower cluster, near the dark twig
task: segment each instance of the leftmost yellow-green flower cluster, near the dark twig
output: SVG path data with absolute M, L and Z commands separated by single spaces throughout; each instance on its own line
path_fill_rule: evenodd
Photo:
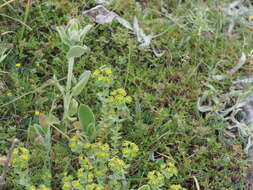
M 12 165 L 23 169 L 27 166 L 30 158 L 29 150 L 26 148 L 15 148 L 12 153 Z

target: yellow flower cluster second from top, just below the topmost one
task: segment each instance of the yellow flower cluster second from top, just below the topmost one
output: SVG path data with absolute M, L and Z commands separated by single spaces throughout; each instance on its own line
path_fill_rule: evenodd
M 110 96 L 107 99 L 107 102 L 110 104 L 123 104 L 123 103 L 131 103 L 132 97 L 127 96 L 126 91 L 123 88 L 119 88 L 110 93 Z

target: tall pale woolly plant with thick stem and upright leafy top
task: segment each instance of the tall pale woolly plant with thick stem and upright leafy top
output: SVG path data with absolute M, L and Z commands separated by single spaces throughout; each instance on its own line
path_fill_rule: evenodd
M 69 50 L 66 54 L 68 60 L 68 75 L 66 86 L 61 86 L 54 76 L 56 86 L 63 96 L 64 121 L 74 121 L 76 119 L 75 117 L 72 117 L 77 113 L 78 110 L 78 102 L 75 98 L 82 92 L 90 77 L 91 72 L 84 71 L 80 75 L 79 80 L 72 87 L 72 83 L 74 81 L 74 59 L 81 57 L 88 50 L 88 47 L 83 44 L 83 40 L 91 27 L 92 25 L 89 24 L 84 28 L 81 28 L 78 20 L 72 19 L 69 21 L 66 27 L 59 26 L 56 28 L 60 35 L 62 43 L 69 47 Z

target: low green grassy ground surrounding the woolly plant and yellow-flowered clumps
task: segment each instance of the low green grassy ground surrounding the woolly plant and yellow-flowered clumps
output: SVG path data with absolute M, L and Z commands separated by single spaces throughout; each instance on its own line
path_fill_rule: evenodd
M 226 2 L 230 1 L 168 0 L 161 7 L 159 0 L 143 0 L 138 8 L 134 0 L 118 0 L 108 6 L 129 21 L 137 16 L 146 33 L 162 33 L 152 41 L 165 51 L 162 57 L 140 48 L 135 36 L 116 21 L 95 24 L 86 36 L 90 52 L 76 61 L 74 74 L 109 66 L 116 79 L 111 88 L 122 87 L 133 98 L 129 105 L 131 118 L 122 123 L 120 131 L 123 140 L 139 147 L 127 174 L 132 188 L 147 183 L 147 173 L 158 169 L 161 160 L 168 160 L 175 163 L 178 175 L 166 181 L 162 189 L 169 189 L 171 184 L 197 189 L 194 177 L 200 189 L 244 189 L 242 142 L 227 138 L 223 122 L 215 117 L 206 119 L 196 108 L 198 97 L 210 82 L 208 78 L 231 69 L 242 51 L 251 50 L 252 31 L 247 26 L 239 24 L 233 35 L 226 34 L 229 18 L 220 8 Z M 92 23 L 81 13 L 94 5 L 91 0 L 28 0 L 0 8 L 1 43 L 11 48 L 0 64 L 4 86 L 0 89 L 0 155 L 7 154 L 16 136 L 20 146 L 30 150 L 29 176 L 35 185 L 46 183 L 41 181 L 41 173 L 48 169 L 48 158 L 43 146 L 28 139 L 28 128 L 39 122 L 35 111 L 49 113 L 52 102 L 54 115 L 61 118 L 63 113 L 62 99 L 54 86 L 36 90 L 53 75 L 66 77 L 66 47 L 55 28 L 66 25 L 71 18 L 78 18 L 83 26 Z M 252 66 L 247 64 L 247 69 L 236 76 L 251 71 Z M 99 121 L 102 113 L 97 93 L 101 89 L 92 80 L 78 102 L 89 105 Z M 226 90 L 230 82 L 213 85 Z M 50 156 L 51 187 L 61 189 L 61 174 L 73 174 L 77 161 L 67 148 L 68 140 L 55 133 Z M 24 189 L 15 181 L 17 178 L 11 168 L 6 189 Z

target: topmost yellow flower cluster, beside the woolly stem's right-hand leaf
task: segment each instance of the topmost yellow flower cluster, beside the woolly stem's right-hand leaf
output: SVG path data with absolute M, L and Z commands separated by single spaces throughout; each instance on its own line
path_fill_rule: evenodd
M 112 83 L 112 70 L 109 67 L 104 67 L 97 69 L 93 72 L 93 76 L 98 82 L 103 82 L 105 84 Z

